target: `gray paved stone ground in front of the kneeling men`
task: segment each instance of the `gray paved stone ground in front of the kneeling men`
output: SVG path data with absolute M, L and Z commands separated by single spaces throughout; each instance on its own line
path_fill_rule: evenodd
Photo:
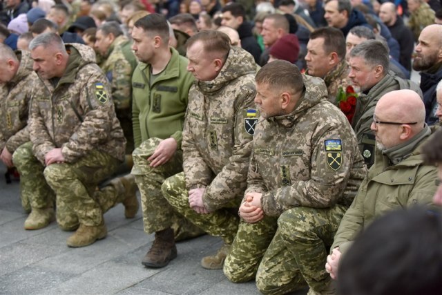
M 259 294 L 254 282 L 231 283 L 221 270 L 200 266 L 202 256 L 222 245 L 220 238 L 180 242 L 170 265 L 143 267 L 153 235 L 144 234 L 140 211 L 125 219 L 121 204 L 104 215 L 107 238 L 88 247 L 67 247 L 70 233 L 55 222 L 26 231 L 19 182 L 6 184 L 6 168 L 0 171 L 0 294 Z

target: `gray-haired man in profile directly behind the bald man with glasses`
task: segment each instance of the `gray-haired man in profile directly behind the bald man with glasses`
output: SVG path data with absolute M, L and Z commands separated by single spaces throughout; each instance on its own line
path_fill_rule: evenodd
M 370 130 L 374 107 L 378 100 L 390 91 L 412 89 L 422 97 L 421 89 L 410 80 L 397 77 L 389 71 L 387 48 L 381 41 L 367 40 L 352 49 L 349 54 L 350 73 L 355 88 L 361 92 L 356 102 L 352 127 L 367 166 L 374 162 L 374 133 Z

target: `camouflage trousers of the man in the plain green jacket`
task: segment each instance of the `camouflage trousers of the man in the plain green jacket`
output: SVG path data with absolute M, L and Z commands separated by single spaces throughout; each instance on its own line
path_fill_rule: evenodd
M 175 233 L 175 240 L 201 236 L 205 234 L 204 231 L 177 213 L 161 191 L 166 178 L 182 171 L 182 151 L 177 150 L 169 162 L 161 166 L 149 166 L 147 158 L 153 154 L 160 142 L 158 138 L 151 138 L 133 151 L 132 174 L 135 175 L 135 182 L 140 189 L 144 231 L 152 234 L 171 227 Z

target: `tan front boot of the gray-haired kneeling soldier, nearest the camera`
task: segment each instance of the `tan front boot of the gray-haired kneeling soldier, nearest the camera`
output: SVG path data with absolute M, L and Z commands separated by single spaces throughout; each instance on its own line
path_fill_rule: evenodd
M 70 236 L 66 241 L 69 247 L 84 247 L 93 244 L 96 240 L 106 238 L 108 229 L 102 220 L 101 225 L 88 226 L 80 223 L 79 228 L 75 231 L 75 234 Z

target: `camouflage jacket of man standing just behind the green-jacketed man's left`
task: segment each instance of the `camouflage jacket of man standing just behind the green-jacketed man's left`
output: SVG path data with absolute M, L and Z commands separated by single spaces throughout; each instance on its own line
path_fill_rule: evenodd
M 137 66 L 137 58 L 128 48 L 130 46 L 131 42 L 126 37 L 117 37 L 101 67 L 111 83 L 112 99 L 117 111 L 131 108 L 131 79 L 133 70 Z

